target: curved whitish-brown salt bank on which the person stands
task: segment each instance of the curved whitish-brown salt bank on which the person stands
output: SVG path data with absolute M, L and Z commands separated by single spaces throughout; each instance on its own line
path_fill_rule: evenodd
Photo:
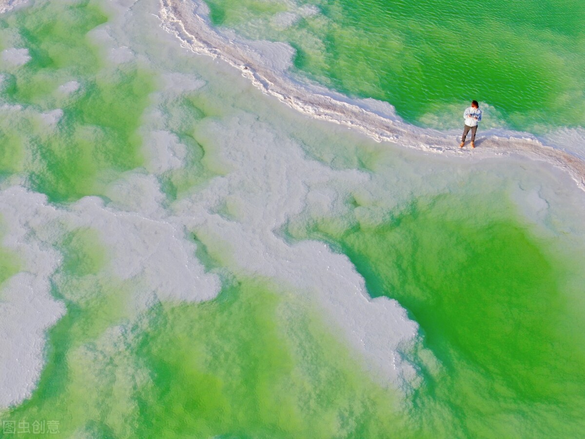
M 384 102 L 351 100 L 319 85 L 295 81 L 286 74 L 294 54 L 292 47 L 280 42 L 252 42 L 236 36 L 232 30 L 216 30 L 208 15 L 209 9 L 201 0 L 160 0 L 161 26 L 176 35 L 185 47 L 227 61 L 257 88 L 304 114 L 351 126 L 379 142 L 454 157 L 464 157 L 468 152 L 458 148 L 459 131 L 440 132 L 408 125 Z M 474 156 L 521 154 L 545 160 L 567 170 L 585 190 L 585 163 L 574 155 L 546 146 L 530 133 L 494 129 L 484 131 L 482 136 L 477 142 L 481 148 L 474 150 Z

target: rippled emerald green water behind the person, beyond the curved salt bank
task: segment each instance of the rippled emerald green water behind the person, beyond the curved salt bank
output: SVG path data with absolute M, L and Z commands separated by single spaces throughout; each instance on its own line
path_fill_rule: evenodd
M 585 5 L 579 0 L 208 0 L 215 25 L 297 49 L 297 71 L 408 122 L 458 128 L 471 100 L 484 126 L 585 126 Z M 277 13 L 315 5 L 291 26 Z M 484 109 L 486 109 L 484 108 Z

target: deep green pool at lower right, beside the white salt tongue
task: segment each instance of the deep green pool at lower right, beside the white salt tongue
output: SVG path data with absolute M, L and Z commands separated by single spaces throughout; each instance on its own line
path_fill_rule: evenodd
M 441 363 L 423 366 L 415 435 L 575 437 L 585 431 L 585 321 L 571 298 L 582 276 L 554 241 L 485 206 L 444 196 L 378 227 L 332 236 L 324 224 L 309 236 L 349 256 L 372 296 L 407 308 Z

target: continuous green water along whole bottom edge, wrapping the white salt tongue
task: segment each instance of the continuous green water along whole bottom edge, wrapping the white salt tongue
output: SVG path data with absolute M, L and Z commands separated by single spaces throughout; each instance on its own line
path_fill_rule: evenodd
M 314 303 L 230 275 L 211 238 L 197 238 L 198 256 L 224 279 L 219 296 L 136 314 L 136 287 L 104 276 L 105 250 L 82 228 L 61 244 L 54 294 L 67 314 L 49 331 L 38 387 L 2 420 L 58 420 L 64 437 L 582 434 L 579 263 L 511 207 L 490 216 L 443 196 L 391 218 L 335 236 L 317 222 L 307 236 L 346 253 L 372 296 L 419 323 L 436 362 L 421 354 L 413 393 L 373 382 Z

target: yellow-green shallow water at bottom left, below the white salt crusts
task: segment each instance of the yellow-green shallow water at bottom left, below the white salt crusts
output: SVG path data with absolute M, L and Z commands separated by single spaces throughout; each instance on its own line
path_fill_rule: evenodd
M 274 291 L 243 280 L 206 303 L 159 304 L 118 337 L 88 334 L 94 320 L 120 323 L 97 312 L 114 302 L 70 304 L 49 332 L 35 393 L 3 420 L 59 420 L 64 435 L 97 437 L 393 431 L 396 398 L 371 382 L 306 302 Z

